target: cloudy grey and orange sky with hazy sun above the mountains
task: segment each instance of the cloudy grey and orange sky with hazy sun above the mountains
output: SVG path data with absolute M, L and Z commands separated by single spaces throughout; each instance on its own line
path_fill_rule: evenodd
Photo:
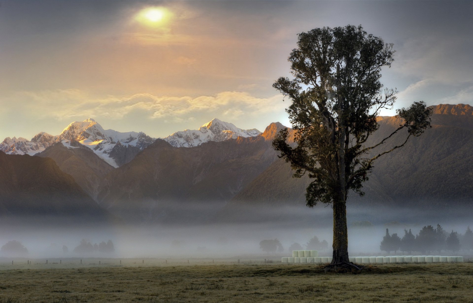
M 297 34 L 348 24 L 394 43 L 395 108 L 473 105 L 472 15 L 473 1 L 2 0 L 0 140 L 87 118 L 155 138 L 213 118 L 290 126 L 272 84 Z

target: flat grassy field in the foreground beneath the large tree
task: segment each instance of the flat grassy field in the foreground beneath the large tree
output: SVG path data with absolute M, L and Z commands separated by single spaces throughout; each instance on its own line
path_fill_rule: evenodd
M 4 265 L 0 303 L 473 302 L 473 263 L 373 265 L 357 275 L 281 263 L 138 264 Z

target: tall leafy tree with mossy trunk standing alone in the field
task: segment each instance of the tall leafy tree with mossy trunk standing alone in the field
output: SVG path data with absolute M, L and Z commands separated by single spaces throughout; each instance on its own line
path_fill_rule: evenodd
M 368 145 L 379 125 L 380 110 L 393 108 L 395 89 L 383 89 L 382 67 L 393 62 L 393 44 L 368 35 L 361 26 L 315 28 L 298 35 L 298 48 L 289 56 L 294 78 L 279 78 L 273 87 L 291 104 L 286 110 L 296 130 L 296 146 L 281 130 L 273 147 L 295 170 L 314 181 L 307 187 L 308 207 L 318 202 L 333 208 L 333 259 L 331 265 L 348 264 L 346 201 L 349 190 L 363 195 L 373 162 L 404 146 L 412 136 L 430 127 L 431 110 L 423 102 L 397 110 L 402 122 L 391 134 Z M 406 138 L 380 151 L 395 133 L 406 129 Z M 375 153 L 374 153 L 375 152 Z

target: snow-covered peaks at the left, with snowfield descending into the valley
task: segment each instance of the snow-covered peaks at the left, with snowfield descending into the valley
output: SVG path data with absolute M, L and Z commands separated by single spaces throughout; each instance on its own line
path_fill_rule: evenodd
M 134 155 L 155 140 L 143 132 L 104 130 L 94 119 L 86 119 L 81 122 L 70 123 L 59 136 L 51 136 L 45 132 L 40 132 L 31 141 L 24 138 L 6 138 L 0 143 L 0 150 L 7 154 L 35 155 L 56 142 L 62 142 L 62 144 L 69 147 L 70 141 L 78 141 L 92 149 L 97 156 L 104 159 L 108 164 L 118 167 L 131 160 Z M 117 143 L 119 143 L 118 146 Z M 128 146 L 133 147 L 133 153 L 130 156 L 130 152 L 125 148 L 124 152 L 127 152 L 127 156 L 124 157 L 120 154 L 120 151 L 123 151 L 123 147 Z M 114 150 L 114 148 L 117 150 Z M 117 158 L 120 158 L 120 160 L 116 161 Z

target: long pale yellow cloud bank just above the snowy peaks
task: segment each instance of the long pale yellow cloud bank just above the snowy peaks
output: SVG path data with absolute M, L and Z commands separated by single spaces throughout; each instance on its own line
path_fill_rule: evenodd
M 78 89 L 48 90 L 41 92 L 21 92 L 15 99 L 29 104 L 31 114 L 49 115 L 58 120 L 74 117 L 102 116 L 122 119 L 127 114 L 142 112 L 149 119 L 170 119 L 183 121 L 187 117 L 201 113 L 214 113 L 216 116 L 249 116 L 281 113 L 287 104 L 281 102 L 281 95 L 260 98 L 246 92 L 225 91 L 216 95 L 156 96 L 152 94 L 133 94 L 94 97 Z M 9 105 L 10 104 L 10 105 Z M 3 102 L 2 106 L 15 106 Z

